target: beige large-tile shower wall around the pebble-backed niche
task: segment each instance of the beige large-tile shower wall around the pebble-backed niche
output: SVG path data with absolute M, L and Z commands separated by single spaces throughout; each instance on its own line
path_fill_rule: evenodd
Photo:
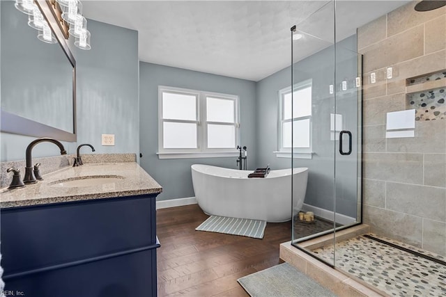
M 386 138 L 387 113 L 413 109 L 406 79 L 446 71 L 446 7 L 420 13 L 415 3 L 357 31 L 364 55 L 363 220 L 372 232 L 445 256 L 446 115 L 416 121 L 415 137 Z

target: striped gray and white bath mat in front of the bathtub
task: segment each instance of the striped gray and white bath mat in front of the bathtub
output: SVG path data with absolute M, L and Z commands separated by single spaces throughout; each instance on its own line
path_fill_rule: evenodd
M 249 220 L 247 218 L 227 218 L 226 216 L 210 216 L 195 230 L 225 233 L 263 239 L 266 221 Z

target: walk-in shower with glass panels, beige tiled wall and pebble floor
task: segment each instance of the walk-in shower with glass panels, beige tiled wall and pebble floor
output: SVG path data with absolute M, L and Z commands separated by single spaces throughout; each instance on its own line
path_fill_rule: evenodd
M 340 29 L 362 2 L 291 28 L 291 165 L 309 169 L 291 243 L 383 294 L 444 296 L 446 6 Z

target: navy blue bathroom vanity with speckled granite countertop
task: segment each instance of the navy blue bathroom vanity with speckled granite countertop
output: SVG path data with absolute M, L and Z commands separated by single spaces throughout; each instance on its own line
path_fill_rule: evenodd
M 6 291 L 27 297 L 156 296 L 155 197 L 137 163 L 89 163 L 1 191 Z

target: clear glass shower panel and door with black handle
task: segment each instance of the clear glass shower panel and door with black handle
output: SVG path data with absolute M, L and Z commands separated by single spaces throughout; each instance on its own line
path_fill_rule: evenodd
M 335 10 L 335 1 L 321 3 L 291 28 L 291 162 L 309 168 L 305 201 L 293 207 L 291 243 L 314 257 L 305 241 L 329 236 L 335 251 L 336 232 L 362 220 L 362 56 L 355 34 L 337 35 Z M 334 266 L 334 254 L 320 259 Z

